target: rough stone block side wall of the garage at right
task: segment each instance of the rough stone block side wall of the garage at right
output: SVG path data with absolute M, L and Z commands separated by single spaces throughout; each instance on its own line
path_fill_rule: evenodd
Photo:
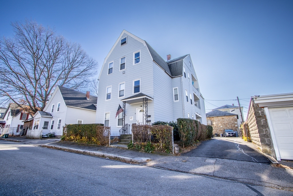
M 251 100 L 250 110 L 248 111 L 247 123 L 251 141 L 257 145 L 263 153 L 276 158 L 275 151 L 272 147 L 265 111 L 263 108 L 258 107 L 253 100 Z

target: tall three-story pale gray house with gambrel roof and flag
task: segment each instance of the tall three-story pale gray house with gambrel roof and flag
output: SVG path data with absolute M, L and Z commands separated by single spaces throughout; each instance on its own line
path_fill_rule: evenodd
M 115 118 L 119 105 L 125 113 Z M 111 126 L 115 136 L 122 125 L 177 118 L 207 124 L 190 55 L 172 60 L 168 55 L 165 61 L 146 41 L 123 30 L 100 72 L 96 123 Z

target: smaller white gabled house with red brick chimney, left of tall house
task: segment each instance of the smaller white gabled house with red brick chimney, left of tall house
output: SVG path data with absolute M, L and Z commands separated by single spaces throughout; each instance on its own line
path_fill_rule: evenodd
M 34 115 L 33 130 L 42 129 L 42 135 L 63 134 L 68 124 L 95 123 L 97 97 L 57 86 L 44 111 Z

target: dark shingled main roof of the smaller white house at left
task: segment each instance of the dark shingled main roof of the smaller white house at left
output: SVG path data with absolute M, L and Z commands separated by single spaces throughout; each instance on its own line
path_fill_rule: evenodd
M 90 110 L 97 110 L 96 106 L 94 105 L 97 104 L 97 97 L 90 95 L 90 99 L 87 100 L 86 93 L 74 91 L 63 86 L 58 87 L 62 94 L 65 105 Z

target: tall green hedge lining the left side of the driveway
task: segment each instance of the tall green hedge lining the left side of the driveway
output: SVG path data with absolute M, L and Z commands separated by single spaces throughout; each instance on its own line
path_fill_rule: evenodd
M 212 137 L 213 128 L 203 125 L 197 120 L 190 118 L 177 119 L 179 145 L 183 148 L 193 145 L 197 140 L 202 141 Z

